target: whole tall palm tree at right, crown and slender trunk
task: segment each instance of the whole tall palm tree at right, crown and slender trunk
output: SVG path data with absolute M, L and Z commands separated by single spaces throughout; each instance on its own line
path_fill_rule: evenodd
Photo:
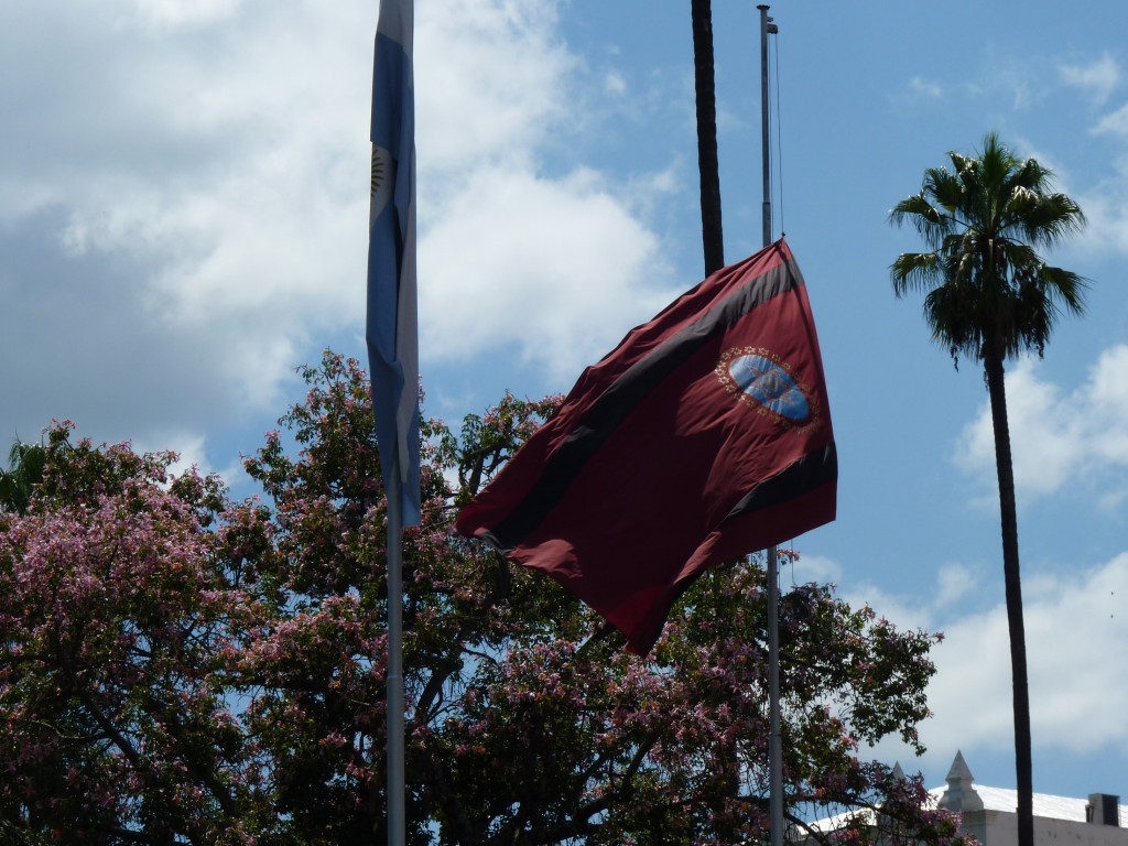
M 1016 157 L 995 133 L 984 139 L 976 157 L 957 152 L 949 157 L 951 170 L 925 170 L 920 193 L 890 212 L 892 223 L 913 223 L 929 248 L 902 253 L 890 274 L 898 297 L 924 292 L 932 336 L 957 364 L 962 354 L 984 367 L 995 433 L 1011 634 L 1019 846 L 1033 846 L 1030 696 L 1003 363 L 1029 350 L 1041 356 L 1061 312 L 1083 311 L 1085 280 L 1047 265 L 1034 250 L 1078 232 L 1085 217 L 1073 200 L 1052 190 L 1050 170 L 1034 159 Z

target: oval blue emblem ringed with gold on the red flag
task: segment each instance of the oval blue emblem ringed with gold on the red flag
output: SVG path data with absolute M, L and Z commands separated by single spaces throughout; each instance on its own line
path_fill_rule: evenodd
M 791 365 L 769 350 L 728 350 L 714 372 L 725 390 L 778 425 L 810 431 L 821 423 L 818 398 L 792 374 Z

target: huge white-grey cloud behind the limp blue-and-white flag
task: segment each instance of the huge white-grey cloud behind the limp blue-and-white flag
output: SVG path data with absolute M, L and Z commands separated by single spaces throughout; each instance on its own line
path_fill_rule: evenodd
M 20 431 L 72 416 L 106 440 L 156 442 L 178 407 L 178 442 L 202 451 L 199 432 L 275 411 L 315 338 L 360 332 L 377 7 L 99 8 L 0 11 L 0 30 L 21 33 L 0 51 L 20 81 L 0 87 L 19 114 L 0 140 L 0 241 L 24 256 L 6 267 L 34 268 L 0 268 L 24 316 L 0 353 L 26 362 L 0 393 Z M 415 54 L 433 354 L 515 344 L 574 374 L 664 305 L 643 222 L 662 178 L 544 171 L 584 98 L 606 95 L 579 73 L 556 2 L 420 5 Z

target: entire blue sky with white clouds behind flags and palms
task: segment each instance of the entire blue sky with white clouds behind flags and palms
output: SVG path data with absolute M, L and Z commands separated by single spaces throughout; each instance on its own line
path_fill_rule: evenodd
M 929 785 L 962 749 L 1013 786 L 982 379 L 933 345 L 888 266 L 888 210 L 997 130 L 1054 168 L 1092 280 L 1043 361 L 1008 368 L 1034 785 L 1128 795 L 1128 7 L 781 0 L 775 235 L 807 277 L 839 517 L 784 582 L 830 580 L 945 632 Z M 0 439 L 52 417 L 240 453 L 326 346 L 363 356 L 376 0 L 0 6 Z M 714 0 L 725 253 L 760 241 L 758 11 Z M 421 0 L 422 370 L 457 421 L 566 391 L 702 275 L 689 3 Z M 775 111 L 774 111 L 775 112 Z

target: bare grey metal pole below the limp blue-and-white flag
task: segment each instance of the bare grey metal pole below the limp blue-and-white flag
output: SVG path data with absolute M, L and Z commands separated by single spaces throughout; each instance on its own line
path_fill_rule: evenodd
M 399 475 L 399 450 L 391 450 L 391 472 L 385 476 L 388 500 L 388 846 L 404 846 L 406 813 L 404 795 L 404 622 L 403 535 L 404 506 Z

